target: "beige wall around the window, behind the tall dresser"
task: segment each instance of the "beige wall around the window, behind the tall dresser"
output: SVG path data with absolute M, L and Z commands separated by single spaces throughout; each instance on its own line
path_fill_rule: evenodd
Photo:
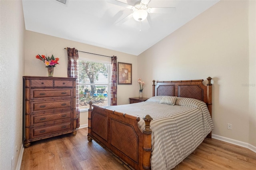
M 48 76 L 47 69 L 42 61 L 36 59 L 37 54 L 40 55 L 54 55 L 59 57 L 59 65 L 54 67 L 54 77 L 67 77 L 68 59 L 65 47 L 75 47 L 79 51 L 86 51 L 107 56 L 117 56 L 118 62 L 132 64 L 132 85 L 118 85 L 117 103 L 118 105 L 128 104 L 129 97 L 138 95 L 137 81 L 137 56 L 121 53 L 109 49 L 95 47 L 92 45 L 78 43 L 62 38 L 56 38 L 45 34 L 26 31 L 26 45 L 25 45 L 25 75 L 31 76 Z M 79 57 L 92 57 L 90 54 L 79 53 Z M 99 58 L 97 55 L 94 57 Z M 106 60 L 106 58 L 103 58 Z M 110 58 L 109 61 L 111 61 Z M 80 113 L 80 125 L 88 124 L 88 112 Z

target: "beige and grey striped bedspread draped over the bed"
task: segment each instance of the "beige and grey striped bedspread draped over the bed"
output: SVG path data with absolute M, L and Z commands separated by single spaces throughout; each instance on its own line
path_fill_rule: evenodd
M 139 127 L 144 128 L 142 118 L 150 115 L 152 129 L 152 170 L 170 170 L 199 146 L 214 128 L 206 104 L 190 98 L 178 97 L 175 105 L 148 100 L 128 105 L 105 108 L 140 117 Z

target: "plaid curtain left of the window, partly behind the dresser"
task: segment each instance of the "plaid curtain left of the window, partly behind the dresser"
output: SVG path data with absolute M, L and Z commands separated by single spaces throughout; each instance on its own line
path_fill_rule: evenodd
M 79 111 L 79 83 L 78 83 L 78 50 L 67 47 L 68 51 L 68 77 L 76 78 L 76 128 L 80 127 Z

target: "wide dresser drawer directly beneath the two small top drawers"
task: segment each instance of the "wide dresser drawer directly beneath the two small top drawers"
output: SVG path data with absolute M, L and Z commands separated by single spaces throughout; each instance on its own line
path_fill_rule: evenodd
M 31 89 L 31 100 L 43 98 L 72 97 L 72 89 Z

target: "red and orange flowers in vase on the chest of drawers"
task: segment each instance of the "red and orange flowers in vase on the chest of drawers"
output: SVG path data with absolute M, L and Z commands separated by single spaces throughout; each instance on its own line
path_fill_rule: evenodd
M 59 61 L 59 58 L 54 58 L 54 56 L 52 55 L 52 57 L 46 57 L 45 55 L 36 55 L 37 59 L 40 59 L 41 61 L 44 62 L 44 64 L 46 65 L 45 67 L 47 67 L 48 69 L 48 76 L 52 77 L 53 76 L 53 71 L 54 71 L 54 67 L 56 67 Z

